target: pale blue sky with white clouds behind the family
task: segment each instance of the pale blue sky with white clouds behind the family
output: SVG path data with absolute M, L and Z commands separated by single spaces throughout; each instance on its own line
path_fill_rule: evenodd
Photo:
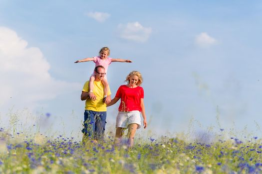
M 1 126 L 26 108 L 50 113 L 54 131 L 79 133 L 94 63 L 73 62 L 108 46 L 111 57 L 133 61 L 109 67 L 112 97 L 130 71 L 143 75 L 148 130 L 186 132 L 193 118 L 197 129 L 259 134 L 261 18 L 259 0 L 0 0 Z

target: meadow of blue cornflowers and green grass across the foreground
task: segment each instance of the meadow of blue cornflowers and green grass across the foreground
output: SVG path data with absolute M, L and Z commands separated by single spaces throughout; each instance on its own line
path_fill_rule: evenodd
M 262 142 L 257 137 L 186 142 L 136 138 L 135 146 L 114 146 L 113 137 L 82 143 L 73 137 L 11 135 L 0 128 L 3 174 L 260 174 Z

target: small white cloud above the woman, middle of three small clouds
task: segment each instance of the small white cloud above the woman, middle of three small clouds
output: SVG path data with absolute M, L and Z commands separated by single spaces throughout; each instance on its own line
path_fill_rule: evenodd
M 147 41 L 152 32 L 150 27 L 143 27 L 139 22 L 119 24 L 118 29 L 121 38 L 138 42 Z

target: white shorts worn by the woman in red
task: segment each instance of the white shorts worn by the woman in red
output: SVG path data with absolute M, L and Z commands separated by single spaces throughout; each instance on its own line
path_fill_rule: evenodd
M 141 127 L 140 111 L 118 112 L 116 117 L 116 127 L 127 128 L 129 124 L 136 123 L 137 129 Z

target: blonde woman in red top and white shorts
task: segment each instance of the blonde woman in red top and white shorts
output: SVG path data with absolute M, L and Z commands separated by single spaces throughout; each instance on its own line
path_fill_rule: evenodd
M 115 98 L 107 106 L 115 104 L 121 98 L 116 117 L 115 144 L 119 144 L 124 130 L 128 128 L 128 144 L 133 146 L 136 130 L 141 127 L 140 112 L 144 119 L 144 128 L 147 127 L 144 89 L 140 87 L 143 82 L 142 75 L 138 71 L 133 71 L 127 75 L 125 82 L 127 85 L 118 88 Z

